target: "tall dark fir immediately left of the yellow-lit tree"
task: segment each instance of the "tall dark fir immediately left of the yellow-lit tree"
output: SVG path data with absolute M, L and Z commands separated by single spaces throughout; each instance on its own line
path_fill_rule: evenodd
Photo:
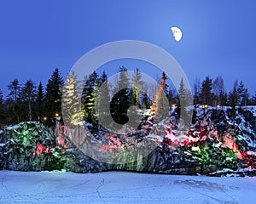
M 45 111 L 48 118 L 61 113 L 61 87 L 64 81 L 58 68 L 55 69 L 46 85 Z

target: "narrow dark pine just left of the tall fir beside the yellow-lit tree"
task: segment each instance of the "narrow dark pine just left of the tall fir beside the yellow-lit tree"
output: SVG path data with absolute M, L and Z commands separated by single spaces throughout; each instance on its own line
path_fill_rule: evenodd
M 38 116 L 38 120 L 42 120 L 44 118 L 44 88 L 42 82 L 39 82 L 37 97 L 36 97 L 36 104 L 35 104 L 35 113 Z

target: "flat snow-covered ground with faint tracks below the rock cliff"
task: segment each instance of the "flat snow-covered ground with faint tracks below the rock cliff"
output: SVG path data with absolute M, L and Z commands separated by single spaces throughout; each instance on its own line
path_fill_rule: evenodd
M 0 182 L 0 203 L 256 203 L 256 177 L 0 171 Z

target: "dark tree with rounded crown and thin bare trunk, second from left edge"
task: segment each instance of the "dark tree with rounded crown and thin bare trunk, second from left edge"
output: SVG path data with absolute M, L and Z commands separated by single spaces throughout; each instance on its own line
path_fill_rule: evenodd
M 20 90 L 20 101 L 28 108 L 27 116 L 29 121 L 32 121 L 32 103 L 34 103 L 36 95 L 37 92 L 34 82 L 32 80 L 26 81 L 25 86 Z

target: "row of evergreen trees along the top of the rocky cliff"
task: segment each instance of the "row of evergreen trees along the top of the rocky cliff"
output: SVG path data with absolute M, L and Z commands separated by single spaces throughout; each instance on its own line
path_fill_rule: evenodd
M 166 73 L 161 74 L 159 89 L 147 87 L 143 82 L 142 74 L 137 69 L 132 77 L 124 66 L 119 67 L 119 78 L 115 84 L 108 82 L 105 71 L 99 76 L 94 71 L 90 76 L 85 76 L 83 82 L 77 80 L 75 73 L 70 72 L 64 84 L 61 72 L 56 68 L 49 78 L 46 87 L 42 82 L 36 86 L 32 80 L 27 80 L 21 85 L 18 79 L 9 82 L 9 94 L 4 99 L 0 89 L 0 125 L 15 124 L 22 121 L 44 121 L 55 116 L 61 116 L 61 96 L 68 95 L 62 108 L 68 112 L 78 112 L 78 99 L 81 99 L 81 111 L 69 116 L 71 122 L 85 120 L 91 124 L 97 124 L 96 112 L 101 111 L 110 114 L 115 122 L 125 124 L 129 118 L 126 116 L 131 105 L 137 105 L 140 109 L 148 109 L 150 106 L 160 105 L 163 95 L 169 105 L 180 106 L 180 101 L 190 100 L 194 105 L 212 105 L 232 107 L 244 105 L 256 105 L 256 94 L 250 96 L 243 82 L 236 81 L 233 88 L 227 92 L 224 87 L 224 79 L 206 77 L 202 82 L 195 79 L 193 95 L 188 94 L 184 88 L 183 79 L 180 80 L 176 90 L 172 84 L 167 83 Z M 102 86 L 103 85 L 103 86 Z M 146 90 L 146 91 L 145 91 Z M 190 97 L 190 98 L 189 98 Z M 96 101 L 97 99 L 97 101 Z M 102 103 L 96 103 L 102 101 Z M 73 110 L 73 111 L 71 111 Z

